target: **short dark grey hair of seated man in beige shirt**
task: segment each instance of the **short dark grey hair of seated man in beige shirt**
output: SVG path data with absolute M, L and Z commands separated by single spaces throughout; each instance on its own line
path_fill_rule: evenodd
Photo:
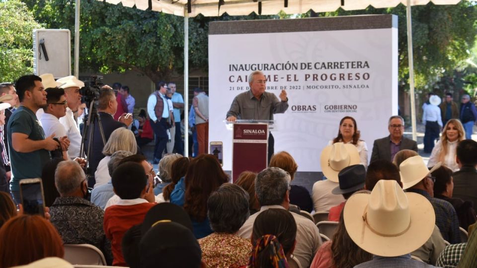
M 255 194 L 260 206 L 282 204 L 290 181 L 290 174 L 281 168 L 269 167 L 258 173 Z

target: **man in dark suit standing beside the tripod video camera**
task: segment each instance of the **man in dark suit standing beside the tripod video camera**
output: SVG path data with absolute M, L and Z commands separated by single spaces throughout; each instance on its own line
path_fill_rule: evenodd
M 101 120 L 101 126 L 103 127 L 105 142 L 108 142 L 109 136 L 113 131 L 119 128 L 127 128 L 133 122 L 133 117 L 131 114 L 123 114 L 119 117 L 119 120 L 116 121 L 113 118 L 113 115 L 116 113 L 118 108 L 118 102 L 114 91 L 109 86 L 101 87 L 101 93 L 99 94 L 98 101 L 98 115 Z M 99 161 L 103 159 L 104 155 L 102 153 L 104 148 L 104 143 L 101 139 L 101 134 L 99 133 L 98 124 L 94 125 L 93 141 L 91 146 L 89 158 L 89 168 L 90 175 L 94 175 L 96 168 L 98 167 Z M 85 145 L 85 150 L 87 144 Z M 87 153 L 87 151 L 86 151 Z M 92 182 L 91 182 L 92 181 Z M 92 184 L 91 184 L 92 183 Z M 89 180 L 88 185 L 92 187 L 94 185 L 94 180 Z

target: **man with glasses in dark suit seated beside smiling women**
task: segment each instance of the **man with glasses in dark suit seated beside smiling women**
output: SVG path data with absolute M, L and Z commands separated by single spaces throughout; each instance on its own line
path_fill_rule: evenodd
M 393 161 L 396 153 L 403 149 L 417 152 L 417 142 L 402 136 L 404 133 L 404 119 L 400 116 L 392 116 L 388 121 L 389 136 L 374 141 L 371 161 L 384 159 Z

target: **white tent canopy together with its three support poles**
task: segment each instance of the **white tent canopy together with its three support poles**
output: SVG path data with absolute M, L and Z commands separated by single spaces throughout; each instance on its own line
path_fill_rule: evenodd
M 145 10 L 149 8 L 149 0 L 99 0 L 111 4 L 122 3 L 123 6 Z M 411 5 L 423 5 L 429 2 L 434 4 L 457 4 L 461 0 L 151 0 L 152 10 L 184 16 L 184 125 L 188 126 L 188 90 L 189 87 L 189 23 L 188 17 L 198 14 L 204 16 L 220 16 L 227 12 L 229 15 L 249 15 L 252 12 L 261 15 L 274 15 L 280 11 L 287 14 L 301 14 L 312 9 L 315 12 L 330 12 L 338 8 L 344 10 L 365 9 L 368 6 L 375 8 L 395 7 L 402 3 L 407 7 L 407 49 L 409 58 L 409 88 L 411 100 L 412 138 L 416 140 L 416 115 L 414 100 L 414 68 L 412 59 L 412 27 Z M 219 8 L 219 2 L 221 6 Z M 76 0 L 75 20 L 75 75 L 79 74 L 79 3 Z M 190 4 L 190 10 L 187 8 Z M 286 5 L 286 7 L 285 7 Z M 184 133 L 184 155 L 188 156 L 188 132 Z

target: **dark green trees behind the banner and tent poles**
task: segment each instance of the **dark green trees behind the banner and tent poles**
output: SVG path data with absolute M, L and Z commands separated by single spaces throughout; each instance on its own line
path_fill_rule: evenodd
M 75 0 L 23 0 L 46 28 L 67 28 L 74 36 Z M 286 15 L 204 17 L 189 20 L 189 67 L 208 68 L 208 26 L 215 20 L 279 19 L 308 16 L 396 14 L 398 16 L 399 88 L 408 88 L 406 8 Z M 475 2 L 412 7 L 414 69 L 417 91 L 471 89 L 477 86 L 477 10 Z M 81 1 L 80 70 L 133 69 L 153 81 L 183 70 L 183 18 L 97 0 Z M 73 47 L 73 46 L 72 46 Z

